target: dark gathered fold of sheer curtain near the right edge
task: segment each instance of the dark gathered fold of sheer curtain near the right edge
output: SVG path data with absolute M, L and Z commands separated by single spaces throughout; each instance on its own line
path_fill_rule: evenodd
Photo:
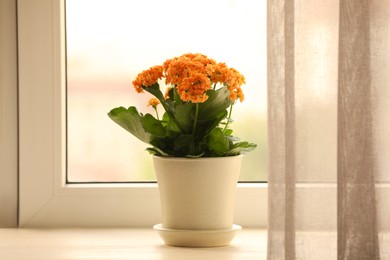
M 370 3 L 340 2 L 338 259 L 379 259 L 374 186 Z M 375 29 L 375 28 L 373 28 Z

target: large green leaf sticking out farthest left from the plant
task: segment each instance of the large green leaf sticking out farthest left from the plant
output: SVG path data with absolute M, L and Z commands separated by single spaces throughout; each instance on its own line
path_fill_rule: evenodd
M 135 107 L 118 107 L 112 109 L 108 116 L 118 125 L 126 129 L 145 143 L 150 142 L 150 133 L 146 132 L 141 122 L 141 115 Z

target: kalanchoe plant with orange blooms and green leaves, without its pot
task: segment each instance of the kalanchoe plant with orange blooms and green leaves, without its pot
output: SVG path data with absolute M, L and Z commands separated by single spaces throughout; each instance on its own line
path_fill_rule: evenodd
M 162 93 L 159 80 L 168 86 Z M 256 147 L 232 135 L 232 110 L 244 100 L 242 74 L 202 54 L 184 54 L 140 73 L 133 81 L 138 93 L 154 96 L 149 105 L 156 117 L 131 106 L 112 109 L 108 116 L 159 156 L 220 157 L 238 155 Z M 165 113 L 160 118 L 157 106 Z

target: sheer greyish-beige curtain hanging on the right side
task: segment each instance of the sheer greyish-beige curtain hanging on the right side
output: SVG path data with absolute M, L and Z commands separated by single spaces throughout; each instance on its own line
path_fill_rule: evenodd
M 390 259 L 390 1 L 268 0 L 268 259 Z

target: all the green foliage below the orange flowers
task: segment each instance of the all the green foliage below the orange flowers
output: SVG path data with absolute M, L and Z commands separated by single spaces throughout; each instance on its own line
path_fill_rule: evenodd
M 158 84 L 145 90 L 161 99 L 164 109 L 167 108 L 161 121 L 151 114 L 139 113 L 133 106 L 128 109 L 114 108 L 108 116 L 141 141 L 153 146 L 147 148 L 149 153 L 158 156 L 215 157 L 255 149 L 255 144 L 238 142 L 239 139 L 232 136 L 231 129 L 222 130 L 224 122 L 221 122 L 226 119 L 227 108 L 232 104 L 226 88 L 208 91 L 209 99 L 199 104 L 176 100 L 179 97 L 175 88 L 169 100 L 163 98 Z M 196 131 L 192 133 L 197 105 L 198 121 Z

